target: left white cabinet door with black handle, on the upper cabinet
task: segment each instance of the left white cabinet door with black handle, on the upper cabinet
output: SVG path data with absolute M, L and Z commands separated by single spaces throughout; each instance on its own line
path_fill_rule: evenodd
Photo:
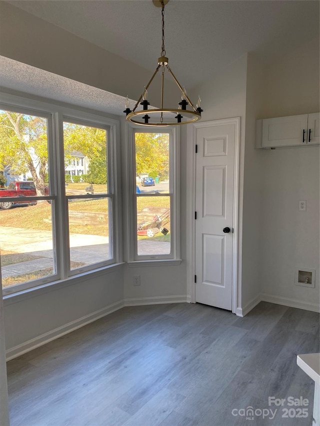
M 307 121 L 307 114 L 264 119 L 262 121 L 262 147 L 306 145 Z

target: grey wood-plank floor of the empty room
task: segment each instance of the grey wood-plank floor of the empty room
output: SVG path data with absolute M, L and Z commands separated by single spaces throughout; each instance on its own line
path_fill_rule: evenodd
M 123 308 L 8 363 L 11 426 L 311 425 L 313 382 L 296 366 L 310 352 L 313 312 Z M 274 409 L 269 396 L 307 398 L 308 418 L 283 419 L 281 407 L 273 420 L 232 416 Z

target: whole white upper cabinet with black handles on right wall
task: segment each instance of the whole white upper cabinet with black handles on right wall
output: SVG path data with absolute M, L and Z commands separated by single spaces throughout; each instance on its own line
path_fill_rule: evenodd
M 320 143 L 319 114 L 267 118 L 256 122 L 256 147 L 278 148 Z

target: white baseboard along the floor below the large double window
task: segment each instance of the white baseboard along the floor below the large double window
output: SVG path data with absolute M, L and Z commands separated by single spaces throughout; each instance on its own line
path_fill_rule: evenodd
M 46 343 L 51 342 L 51 340 L 55 340 L 67 333 L 71 333 L 72 331 L 85 326 L 86 324 L 92 323 L 99 318 L 105 317 L 106 315 L 123 308 L 123 306 L 123 300 L 120 300 L 119 302 L 112 303 L 111 305 L 92 312 L 91 314 L 79 318 L 78 320 L 72 321 L 68 324 L 44 333 L 41 336 L 28 340 L 27 342 L 24 342 L 18 346 L 14 346 L 13 348 L 6 351 L 6 360 L 10 361 L 13 358 L 25 354 L 26 352 L 32 351 L 32 349 L 45 345 Z

